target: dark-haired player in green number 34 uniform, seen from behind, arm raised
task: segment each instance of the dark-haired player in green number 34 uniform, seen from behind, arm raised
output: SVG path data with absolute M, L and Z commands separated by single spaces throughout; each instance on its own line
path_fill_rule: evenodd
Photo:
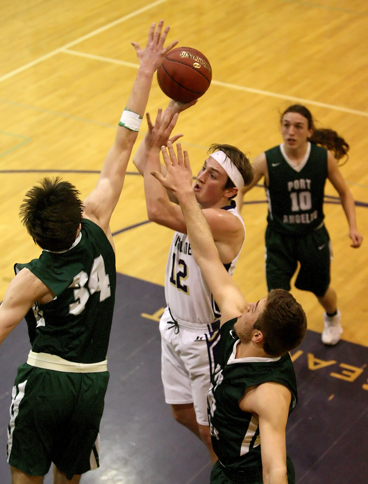
M 26 316 L 32 349 L 18 368 L 8 427 L 13 484 L 41 484 L 54 463 L 54 483 L 77 484 L 99 466 L 99 425 L 109 374 L 106 352 L 115 300 L 110 218 L 146 109 L 153 74 L 177 42 L 151 25 L 147 46 L 96 188 L 84 203 L 67 181 L 45 178 L 26 195 L 20 214 L 43 252 L 17 264 L 0 306 L 0 343 Z

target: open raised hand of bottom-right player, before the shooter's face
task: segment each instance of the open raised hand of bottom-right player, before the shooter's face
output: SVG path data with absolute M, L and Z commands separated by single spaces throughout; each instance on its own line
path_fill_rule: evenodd
M 167 142 L 167 150 L 165 146 L 161 147 L 163 161 L 166 166 L 166 177 L 163 177 L 159 171 L 152 171 L 151 175 L 157 178 L 164 188 L 175 193 L 177 197 L 184 193 L 193 193 L 193 176 L 188 151 L 184 150 L 183 152 L 180 143 L 177 143 L 176 155 L 173 144 L 170 141 Z

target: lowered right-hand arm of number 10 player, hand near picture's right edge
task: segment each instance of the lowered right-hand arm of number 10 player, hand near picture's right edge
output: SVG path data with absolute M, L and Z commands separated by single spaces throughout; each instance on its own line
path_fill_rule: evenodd
M 351 247 L 360 247 L 361 243 L 363 242 L 363 236 L 359 233 L 356 227 L 355 203 L 353 195 L 343 179 L 336 158 L 331 151 L 328 151 L 327 166 L 328 180 L 331 181 L 334 188 L 338 192 L 342 208 L 344 209 L 346 218 L 348 220 L 349 236 L 353 241 Z

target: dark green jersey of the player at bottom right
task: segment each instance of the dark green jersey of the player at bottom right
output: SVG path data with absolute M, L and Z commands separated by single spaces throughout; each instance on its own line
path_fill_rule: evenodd
M 234 331 L 236 320 L 227 321 L 220 330 L 217 366 L 207 396 L 211 440 L 225 473 L 239 478 L 246 472 L 244 482 L 262 482 L 258 418 L 241 410 L 239 400 L 251 386 L 278 382 L 292 393 L 290 413 L 297 401 L 296 378 L 289 353 L 279 359 L 235 359 L 239 341 Z

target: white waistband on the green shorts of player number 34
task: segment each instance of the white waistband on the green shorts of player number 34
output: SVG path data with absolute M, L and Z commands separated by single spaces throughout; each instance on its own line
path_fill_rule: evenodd
M 30 366 L 37 366 L 37 368 L 68 373 L 100 373 L 107 371 L 107 360 L 99 363 L 75 363 L 64 360 L 64 358 L 57 355 L 35 353 L 32 350 L 29 351 L 27 363 Z

